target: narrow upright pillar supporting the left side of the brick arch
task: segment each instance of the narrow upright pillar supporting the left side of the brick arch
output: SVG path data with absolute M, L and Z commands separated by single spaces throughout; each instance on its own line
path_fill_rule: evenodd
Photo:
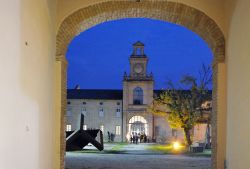
M 65 113 L 67 108 L 67 60 L 64 55 L 55 61 L 55 169 L 64 169 Z

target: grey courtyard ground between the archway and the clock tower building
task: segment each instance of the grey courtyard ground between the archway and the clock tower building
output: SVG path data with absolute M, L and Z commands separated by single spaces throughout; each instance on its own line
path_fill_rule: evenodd
M 121 153 L 67 152 L 65 169 L 210 169 L 209 157 L 165 155 L 147 149 L 147 144 L 105 144 L 105 150 Z M 93 149 L 92 146 L 87 149 Z M 115 151 L 114 151 L 115 152 Z M 123 153 L 124 152 L 124 153 Z

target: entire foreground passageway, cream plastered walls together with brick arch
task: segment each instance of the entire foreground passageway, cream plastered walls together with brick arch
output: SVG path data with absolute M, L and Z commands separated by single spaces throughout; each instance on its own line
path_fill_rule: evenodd
M 211 168 L 248 169 L 249 11 L 249 0 L 1 0 L 0 168 L 64 169 L 70 42 L 106 21 L 150 18 L 210 47 Z

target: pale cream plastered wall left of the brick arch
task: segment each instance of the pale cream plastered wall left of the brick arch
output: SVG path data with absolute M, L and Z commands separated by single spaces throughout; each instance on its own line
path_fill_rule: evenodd
M 0 1 L 0 168 L 53 168 L 54 1 Z

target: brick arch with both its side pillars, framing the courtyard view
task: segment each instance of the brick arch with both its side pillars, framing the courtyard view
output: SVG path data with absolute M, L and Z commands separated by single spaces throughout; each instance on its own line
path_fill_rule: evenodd
M 67 61 L 65 54 L 71 40 L 81 32 L 91 28 L 97 24 L 117 20 L 122 18 L 151 18 L 166 21 L 184 26 L 202 37 L 214 54 L 213 61 L 213 116 L 212 116 L 212 137 L 213 137 L 213 153 L 212 153 L 212 168 L 219 169 L 224 161 L 224 157 L 218 158 L 218 146 L 225 144 L 225 139 L 220 138 L 218 143 L 218 123 L 217 120 L 219 110 L 224 108 L 218 107 L 218 86 L 219 76 L 225 76 L 225 71 L 219 72 L 219 64 L 225 61 L 225 38 L 215 23 L 209 16 L 202 11 L 189 7 L 185 4 L 168 2 L 168 1 L 108 1 L 98 3 L 86 8 L 82 8 L 73 14 L 69 15 L 61 23 L 56 37 L 56 76 L 60 81 L 59 87 L 56 89 L 60 101 L 57 104 L 57 128 L 60 129 L 60 148 L 57 155 L 60 156 L 60 167 L 64 168 L 65 154 L 65 137 L 64 137 L 64 113 L 66 112 L 66 70 Z M 223 101 L 224 102 L 224 101 Z M 224 120 L 225 119 L 220 119 Z M 221 122 L 221 121 L 220 121 Z M 224 122 L 225 123 L 225 122 Z M 223 124 L 224 124 L 223 123 Z M 223 132 L 224 130 L 222 130 Z M 58 131 L 59 132 L 59 131 Z M 221 145 L 222 146 L 222 145 Z M 223 145 L 225 146 L 225 145 Z M 224 148 L 221 148 L 224 150 Z M 223 155 L 222 155 L 223 156 Z

